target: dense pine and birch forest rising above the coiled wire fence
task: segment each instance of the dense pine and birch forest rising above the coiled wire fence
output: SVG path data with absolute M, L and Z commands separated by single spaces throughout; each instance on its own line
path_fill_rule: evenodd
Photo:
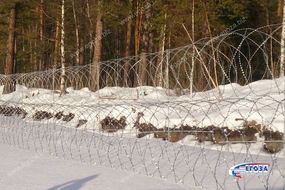
M 229 27 L 280 24 L 283 4 L 283 0 L 0 0 L 0 74 L 161 52 L 220 35 Z M 273 29 L 269 26 L 265 32 Z M 274 35 L 281 41 L 281 29 Z M 268 46 L 272 63 L 280 63 L 280 54 L 280 44 Z M 263 69 L 257 58 L 251 63 L 257 71 Z M 278 68 L 272 64 L 273 76 L 267 77 L 279 76 Z M 194 72 L 197 83 L 200 70 Z

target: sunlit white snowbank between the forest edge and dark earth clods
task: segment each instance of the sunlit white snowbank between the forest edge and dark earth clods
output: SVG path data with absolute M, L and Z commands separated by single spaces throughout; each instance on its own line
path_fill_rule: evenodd
M 72 112 L 75 118 L 67 123 L 56 121 L 55 118 L 41 122 L 57 122 L 75 128 L 79 119 L 86 119 L 88 122 L 80 129 L 87 130 L 100 130 L 100 121 L 106 116 L 117 119 L 125 116 L 127 126 L 124 130 L 119 130 L 118 134 L 128 137 L 136 137 L 134 122 L 138 112 L 144 114 L 140 119 L 141 123 L 149 122 L 157 128 L 174 128 L 187 124 L 198 127 L 227 126 L 229 129 L 236 129 L 243 121 L 235 119 L 243 118 L 247 121 L 256 120 L 273 131 L 284 132 L 285 77 L 255 81 L 245 86 L 230 83 L 219 86 L 219 90 L 223 99 L 217 97 L 216 89 L 196 92 L 191 98 L 189 94 L 178 96 L 174 90 L 152 86 L 105 87 L 97 92 L 92 92 L 88 88 L 74 90 L 68 87 L 67 94 L 59 97 L 59 94 L 52 90 L 17 85 L 15 92 L 1 95 L 0 102 L 25 109 L 28 112 L 25 120 L 32 123 L 32 116 L 39 110 L 54 114 L 58 111 L 63 111 L 64 114 Z M 180 143 L 200 146 L 193 136 L 187 136 Z M 218 150 L 222 148 L 219 145 L 213 146 L 211 142 L 206 142 L 203 146 Z M 233 152 L 247 151 L 247 147 L 241 144 L 231 145 L 230 149 Z M 261 142 L 251 146 L 251 149 L 253 154 L 268 154 L 262 150 Z

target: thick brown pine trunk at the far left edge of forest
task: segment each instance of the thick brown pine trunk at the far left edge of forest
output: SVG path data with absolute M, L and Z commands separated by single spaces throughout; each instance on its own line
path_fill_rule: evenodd
M 14 59 L 15 59 L 15 30 L 16 30 L 16 2 L 13 2 L 10 7 L 9 16 L 9 34 L 7 42 L 7 57 L 6 57 L 6 75 L 14 74 Z M 3 94 L 8 94 L 15 91 L 15 81 L 12 76 L 6 76 L 6 81 L 3 89 Z

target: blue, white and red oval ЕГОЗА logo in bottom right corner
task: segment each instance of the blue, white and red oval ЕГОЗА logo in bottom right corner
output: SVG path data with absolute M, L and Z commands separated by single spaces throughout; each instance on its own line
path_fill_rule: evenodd
M 241 163 L 229 168 L 228 173 L 241 179 L 241 176 L 266 176 L 269 175 L 269 165 L 269 163 Z

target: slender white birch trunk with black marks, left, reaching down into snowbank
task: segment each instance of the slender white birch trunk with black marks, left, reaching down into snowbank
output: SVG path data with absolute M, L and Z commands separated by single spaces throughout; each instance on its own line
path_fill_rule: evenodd
M 60 95 L 64 92 L 64 76 L 65 76 L 65 52 L 64 52 L 64 0 L 62 0 L 61 5 L 61 41 L 60 41 L 60 50 L 61 50 L 61 73 L 60 73 Z

